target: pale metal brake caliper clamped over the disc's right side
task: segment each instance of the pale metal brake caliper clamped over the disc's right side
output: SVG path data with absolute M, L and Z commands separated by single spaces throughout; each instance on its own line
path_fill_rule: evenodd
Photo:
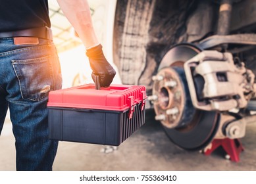
M 244 108 L 255 92 L 255 75 L 231 53 L 202 51 L 184 64 L 193 106 L 226 111 Z

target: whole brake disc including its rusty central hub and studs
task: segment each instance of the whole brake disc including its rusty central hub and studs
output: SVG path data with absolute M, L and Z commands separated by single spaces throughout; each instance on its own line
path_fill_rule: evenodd
M 175 145 L 186 150 L 206 147 L 218 130 L 219 114 L 193 108 L 184 74 L 184 62 L 201 52 L 190 44 L 172 47 L 161 60 L 154 81 L 153 95 L 156 117 L 165 133 Z M 174 85 L 176 85 L 174 87 Z M 177 91 L 180 97 L 177 98 Z

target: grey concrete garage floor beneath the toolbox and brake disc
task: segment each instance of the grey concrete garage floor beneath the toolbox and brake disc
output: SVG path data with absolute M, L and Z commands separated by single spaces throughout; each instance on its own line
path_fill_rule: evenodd
M 161 125 L 153 120 L 154 116 L 153 111 L 147 110 L 145 125 L 119 147 L 60 142 L 53 170 L 256 170 L 256 124 L 247 126 L 241 139 L 245 151 L 236 163 L 226 160 L 221 149 L 210 156 L 179 149 L 168 140 Z M 8 118 L 0 147 L 0 170 L 15 170 L 14 137 Z

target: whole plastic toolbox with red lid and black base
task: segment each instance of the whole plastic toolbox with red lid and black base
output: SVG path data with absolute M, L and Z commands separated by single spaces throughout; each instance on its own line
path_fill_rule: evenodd
M 49 139 L 118 146 L 145 124 L 145 87 L 94 84 L 51 91 Z

